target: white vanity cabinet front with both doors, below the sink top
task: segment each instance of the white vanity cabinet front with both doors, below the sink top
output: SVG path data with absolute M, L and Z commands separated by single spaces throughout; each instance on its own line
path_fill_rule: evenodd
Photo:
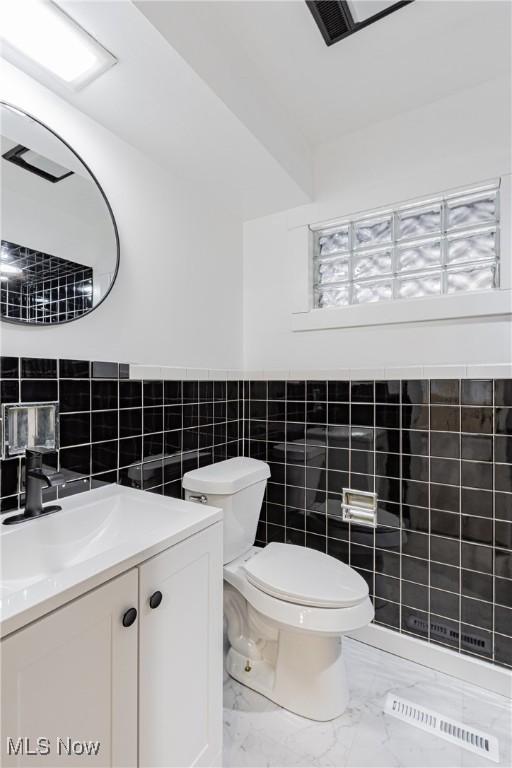
M 5 637 L 1 672 L 6 767 L 216 764 L 222 524 Z M 68 754 L 68 739 L 78 753 Z M 97 755 L 80 754 L 96 741 Z

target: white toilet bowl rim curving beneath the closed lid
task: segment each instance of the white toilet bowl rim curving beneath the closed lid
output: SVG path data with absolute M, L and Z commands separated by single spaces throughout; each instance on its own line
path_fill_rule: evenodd
M 270 545 L 267 545 L 270 546 Z M 285 544 L 283 546 L 291 546 Z M 373 606 L 368 597 L 345 608 L 325 608 L 301 605 L 269 595 L 251 583 L 247 577 L 248 561 L 259 557 L 266 548 L 251 547 L 241 557 L 224 566 L 224 579 L 237 589 L 247 602 L 263 616 L 286 629 L 340 635 L 366 626 L 373 619 Z

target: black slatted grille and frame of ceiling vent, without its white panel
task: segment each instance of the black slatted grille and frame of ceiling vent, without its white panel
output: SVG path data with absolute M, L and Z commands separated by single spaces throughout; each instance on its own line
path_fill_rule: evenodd
M 397 11 L 404 5 L 410 5 L 413 1 L 401 0 L 401 2 L 391 3 L 379 13 L 361 21 L 354 18 L 350 3 L 346 0 L 306 0 L 306 5 L 311 11 L 326 44 L 332 45 Z

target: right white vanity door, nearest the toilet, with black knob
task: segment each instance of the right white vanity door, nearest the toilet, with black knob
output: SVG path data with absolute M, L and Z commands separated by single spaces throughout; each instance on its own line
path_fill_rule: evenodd
M 139 764 L 214 765 L 222 748 L 222 524 L 139 570 Z M 162 601 L 151 608 L 156 591 Z

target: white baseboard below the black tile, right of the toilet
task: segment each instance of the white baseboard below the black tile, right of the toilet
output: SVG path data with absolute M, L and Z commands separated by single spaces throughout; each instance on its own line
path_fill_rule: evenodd
M 376 624 L 350 632 L 347 637 L 512 699 L 512 671 L 502 667 Z

